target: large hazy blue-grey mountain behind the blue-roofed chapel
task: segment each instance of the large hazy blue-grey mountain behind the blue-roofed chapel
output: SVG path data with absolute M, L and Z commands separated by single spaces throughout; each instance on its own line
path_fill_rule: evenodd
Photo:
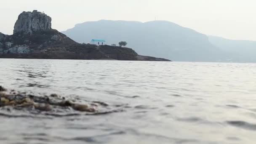
M 225 53 L 195 30 L 168 21 L 91 21 L 63 32 L 79 43 L 104 39 L 107 44 L 128 42 L 139 54 L 174 61 L 222 61 Z

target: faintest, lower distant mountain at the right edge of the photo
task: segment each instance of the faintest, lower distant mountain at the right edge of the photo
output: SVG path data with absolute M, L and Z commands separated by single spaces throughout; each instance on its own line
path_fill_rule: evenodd
M 256 62 L 256 41 L 229 40 L 208 36 L 210 43 L 229 53 L 229 59 L 237 62 Z

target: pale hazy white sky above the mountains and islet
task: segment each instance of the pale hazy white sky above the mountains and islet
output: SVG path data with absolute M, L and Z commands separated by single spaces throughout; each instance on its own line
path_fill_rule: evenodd
M 0 32 L 12 34 L 22 11 L 44 11 L 54 29 L 85 21 L 166 20 L 206 35 L 256 40 L 256 0 L 0 0 Z

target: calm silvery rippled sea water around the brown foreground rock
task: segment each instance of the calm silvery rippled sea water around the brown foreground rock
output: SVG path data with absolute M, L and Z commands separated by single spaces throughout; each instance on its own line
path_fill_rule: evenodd
M 1 144 L 256 141 L 256 64 L 0 59 L 0 85 L 122 109 L 94 116 L 3 115 Z

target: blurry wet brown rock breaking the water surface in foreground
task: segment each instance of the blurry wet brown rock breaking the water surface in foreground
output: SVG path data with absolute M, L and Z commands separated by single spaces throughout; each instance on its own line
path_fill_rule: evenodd
M 0 107 L 30 108 L 48 112 L 71 108 L 80 112 L 97 112 L 93 107 L 94 105 L 71 102 L 60 98 L 56 94 L 52 94 L 50 98 L 48 96 L 27 95 L 26 93 L 20 93 L 14 90 L 7 91 L 0 86 Z

